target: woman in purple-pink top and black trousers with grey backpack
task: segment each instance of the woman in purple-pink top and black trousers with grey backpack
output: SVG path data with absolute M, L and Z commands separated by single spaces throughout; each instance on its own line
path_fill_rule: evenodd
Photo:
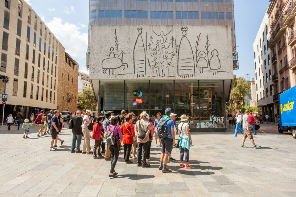
M 121 134 L 120 127 L 117 126 L 117 123 L 118 123 L 118 118 L 113 116 L 110 121 L 111 125 L 107 127 L 107 135 L 113 131 L 114 138 L 115 138 L 114 144 L 109 146 L 109 150 L 111 154 L 111 169 L 109 173 L 110 178 L 117 178 L 117 174 L 118 174 L 117 172 L 115 172 L 115 166 L 118 160 L 119 150 L 120 150 L 120 148 L 117 147 L 117 140 L 120 140 L 120 143 L 122 142 L 122 134 Z

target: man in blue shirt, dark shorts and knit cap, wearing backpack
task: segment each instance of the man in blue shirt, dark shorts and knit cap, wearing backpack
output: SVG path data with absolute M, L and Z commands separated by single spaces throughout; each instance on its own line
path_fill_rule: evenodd
M 166 121 L 167 124 L 167 137 L 164 140 L 161 140 L 161 156 L 160 156 L 160 166 L 159 170 L 162 170 L 163 173 L 171 172 L 167 168 L 167 160 L 172 152 L 172 147 L 175 145 L 175 131 L 174 131 L 174 121 L 171 119 L 171 108 L 167 108 L 165 111 L 166 116 L 162 118 L 161 121 Z

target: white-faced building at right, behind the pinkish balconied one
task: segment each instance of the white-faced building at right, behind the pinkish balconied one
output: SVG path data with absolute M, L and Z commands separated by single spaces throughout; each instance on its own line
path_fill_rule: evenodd
M 268 14 L 265 14 L 253 43 L 253 51 L 256 86 L 255 95 L 258 112 L 263 115 L 268 114 L 270 121 L 273 122 L 273 120 L 275 120 L 274 114 L 277 114 L 277 112 L 275 112 L 273 104 L 273 57 L 268 48 L 270 40 L 269 30 Z

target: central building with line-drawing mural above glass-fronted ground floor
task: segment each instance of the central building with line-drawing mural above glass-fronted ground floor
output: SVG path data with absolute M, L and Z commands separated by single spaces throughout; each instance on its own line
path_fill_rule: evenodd
M 226 130 L 237 68 L 233 0 L 90 0 L 88 44 L 102 113 L 171 107 L 193 131 Z

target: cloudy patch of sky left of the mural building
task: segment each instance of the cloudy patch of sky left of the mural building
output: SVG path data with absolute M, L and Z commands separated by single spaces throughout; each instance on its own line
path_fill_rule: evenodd
M 25 0 L 39 15 L 66 52 L 85 69 L 89 0 Z

